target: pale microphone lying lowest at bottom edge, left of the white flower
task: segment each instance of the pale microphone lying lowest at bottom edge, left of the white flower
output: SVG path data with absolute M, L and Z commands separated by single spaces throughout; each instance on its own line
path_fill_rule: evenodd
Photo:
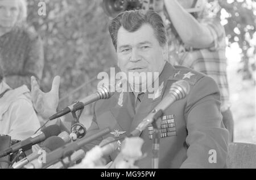
M 73 153 L 70 157 L 65 157 L 62 162 L 57 162 L 55 165 L 49 166 L 47 169 L 63 169 L 64 165 L 76 162 L 85 157 L 84 150 L 80 149 Z

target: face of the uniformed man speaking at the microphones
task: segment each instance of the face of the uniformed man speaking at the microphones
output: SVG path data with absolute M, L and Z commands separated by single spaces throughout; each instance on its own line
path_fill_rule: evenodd
M 160 74 L 165 64 L 166 53 L 167 46 L 160 46 L 150 24 L 143 24 L 135 32 L 128 32 L 123 27 L 118 31 L 118 66 L 127 75 L 135 72 Z

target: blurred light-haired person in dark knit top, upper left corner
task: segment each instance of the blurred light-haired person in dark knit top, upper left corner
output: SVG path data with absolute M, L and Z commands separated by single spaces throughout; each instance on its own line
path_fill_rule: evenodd
M 43 43 L 26 18 L 26 1 L 0 0 L 0 57 L 5 82 L 14 89 L 30 89 L 30 77 L 40 80 L 43 74 Z

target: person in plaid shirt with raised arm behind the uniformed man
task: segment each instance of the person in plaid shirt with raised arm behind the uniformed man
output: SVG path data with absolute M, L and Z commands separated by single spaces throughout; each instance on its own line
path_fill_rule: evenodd
M 187 66 L 212 77 L 221 91 L 221 112 L 233 141 L 234 121 L 229 103 L 225 29 L 207 0 L 157 0 L 154 10 L 162 16 L 173 65 Z M 164 12 L 166 10 L 166 12 Z

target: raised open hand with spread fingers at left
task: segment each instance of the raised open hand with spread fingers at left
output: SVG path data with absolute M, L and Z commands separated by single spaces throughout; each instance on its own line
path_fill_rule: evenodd
M 56 76 L 52 81 L 51 91 L 44 93 L 40 90 L 34 76 L 31 77 L 31 96 L 35 110 L 44 119 L 48 119 L 56 113 L 59 103 L 60 77 Z

